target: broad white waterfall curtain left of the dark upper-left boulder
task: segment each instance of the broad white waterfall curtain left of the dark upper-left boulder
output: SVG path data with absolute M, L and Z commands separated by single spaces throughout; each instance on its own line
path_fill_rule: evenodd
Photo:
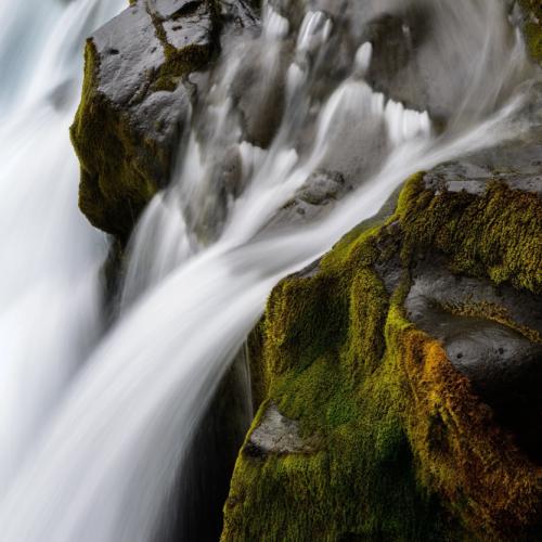
M 122 2 L 0 3 L 0 487 L 99 333 L 103 242 L 76 208 L 66 130 L 80 48 Z

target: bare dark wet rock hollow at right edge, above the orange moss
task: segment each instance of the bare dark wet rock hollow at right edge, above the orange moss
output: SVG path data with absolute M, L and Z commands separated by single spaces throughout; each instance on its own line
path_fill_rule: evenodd
M 415 268 L 405 309 L 442 341 L 498 423 L 542 461 L 542 297 L 453 275 L 434 255 Z

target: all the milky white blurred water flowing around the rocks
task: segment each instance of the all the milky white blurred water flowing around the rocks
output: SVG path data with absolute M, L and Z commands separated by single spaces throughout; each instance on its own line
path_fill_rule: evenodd
M 8 3 L 0 4 L 1 13 Z M 457 13 L 457 25 L 472 15 L 467 34 L 481 31 L 479 17 L 503 17 L 492 0 L 477 2 L 476 13 L 466 0 L 440 4 Z M 236 59 L 247 48 L 261 48 L 259 60 L 270 80 L 282 69 L 281 43 L 292 25 L 269 9 L 259 40 L 247 44 L 232 38 L 224 48 L 205 105 L 194 112 L 194 133 L 175 184 L 151 204 L 132 241 L 121 319 L 86 360 L 100 327 L 95 269 L 103 253 L 75 207 L 77 169 L 66 137 L 73 99 L 54 111 L 44 89 L 51 72 L 56 83 L 79 73 L 73 57 L 59 62 L 59 51 L 74 49 L 65 40 L 80 42 L 90 26 L 111 15 L 102 10 L 82 24 L 76 10 L 90 5 L 100 3 L 76 1 L 63 8 L 63 18 L 51 17 L 42 38 L 51 36 L 49 49 L 28 46 L 43 54 L 43 62 L 30 63 L 29 87 L 15 105 L 13 98 L 2 102 L 9 130 L 0 134 L 2 156 L 7 153 L 0 171 L 0 235 L 10 261 L 0 291 L 5 300 L 0 420 L 2 431 L 12 431 L 2 443 L 16 449 L 0 456 L 7 488 L 0 527 L 7 542 L 152 540 L 191 435 L 272 286 L 374 215 L 410 173 L 509 137 L 508 119 L 520 103 L 509 92 L 511 100 L 495 107 L 493 92 L 488 96 L 475 78 L 464 93 L 468 104 L 457 102 L 451 122 L 461 131 L 454 128 L 453 137 L 437 139 L 426 113 L 387 100 L 362 79 L 373 51 L 359 43 L 351 75 L 336 81 L 314 113 L 313 66 L 334 28 L 322 12 L 311 12 L 287 67 L 284 120 L 262 151 L 244 140 L 230 92 L 242 68 Z M 7 40 L 21 31 L 22 16 L 14 15 L 15 30 L 9 26 Z M 502 88 L 501 76 L 524 72 L 519 49 L 513 43 L 506 49 L 500 31 L 499 25 L 488 25 L 482 35 L 489 49 L 469 51 L 469 65 L 480 69 L 509 49 L 511 66 L 499 76 L 487 72 L 486 88 Z M 442 54 L 449 55 L 444 46 Z M 51 72 L 41 69 L 44 65 Z M 474 116 L 469 121 L 473 108 L 486 112 L 483 120 Z M 211 128 L 207 139 L 197 137 L 198 118 Z M 298 145 L 307 130 L 310 144 Z M 227 146 L 242 157 L 245 190 L 224 203 L 212 193 L 217 165 L 206 157 Z M 266 230 L 312 171 L 337 164 L 362 181 L 351 195 L 311 224 Z M 203 208 L 205 220 L 198 215 Z M 219 212 L 222 218 L 208 223 Z

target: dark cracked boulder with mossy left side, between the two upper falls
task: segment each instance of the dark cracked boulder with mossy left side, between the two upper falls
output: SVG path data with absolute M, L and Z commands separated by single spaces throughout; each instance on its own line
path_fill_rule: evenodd
M 96 228 L 126 238 L 169 180 L 191 114 L 185 77 L 209 61 L 218 24 L 215 0 L 138 0 L 89 38 L 72 140 Z

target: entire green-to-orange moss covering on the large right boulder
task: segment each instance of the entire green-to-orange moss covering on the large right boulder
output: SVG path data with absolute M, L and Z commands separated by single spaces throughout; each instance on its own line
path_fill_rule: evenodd
M 223 541 L 530 540 L 540 532 L 542 469 L 494 425 L 402 305 L 410 264 L 430 250 L 461 272 L 494 278 L 499 266 L 505 280 L 538 292 L 542 204 L 499 184 L 483 197 L 436 195 L 422 179 L 406 183 L 384 225 L 356 229 L 317 274 L 287 278 L 271 295 L 254 343 L 267 399 L 253 428 L 272 400 L 320 446 L 312 454 L 242 452 Z M 399 255 L 403 281 L 388 294 L 375 264 Z

